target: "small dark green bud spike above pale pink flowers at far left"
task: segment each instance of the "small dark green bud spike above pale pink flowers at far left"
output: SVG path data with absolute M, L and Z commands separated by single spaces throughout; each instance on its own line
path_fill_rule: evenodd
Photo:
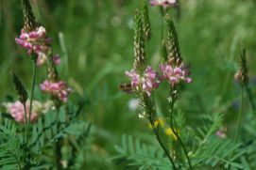
M 14 88 L 19 96 L 19 100 L 22 103 L 26 103 L 27 92 L 26 92 L 25 86 L 22 84 L 19 78 L 12 71 L 10 71 L 10 77 L 13 82 Z

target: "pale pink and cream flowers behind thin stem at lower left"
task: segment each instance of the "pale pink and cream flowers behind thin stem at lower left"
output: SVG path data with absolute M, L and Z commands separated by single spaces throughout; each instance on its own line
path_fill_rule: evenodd
M 20 122 L 20 123 L 25 123 L 25 110 L 24 110 L 24 105 L 20 101 L 15 101 L 15 102 L 8 102 L 3 104 L 7 112 L 12 116 L 15 121 Z M 44 114 L 47 112 L 47 110 L 50 108 L 52 104 L 43 104 L 37 100 L 33 100 L 33 107 L 31 111 L 31 116 L 30 116 L 30 121 L 35 122 L 38 119 L 38 116 L 40 114 Z M 26 101 L 26 117 L 28 118 L 28 111 L 30 107 L 30 102 L 29 100 Z

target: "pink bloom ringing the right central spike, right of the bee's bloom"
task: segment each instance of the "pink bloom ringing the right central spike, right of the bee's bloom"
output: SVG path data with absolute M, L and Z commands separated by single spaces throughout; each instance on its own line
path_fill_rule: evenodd
M 169 84 L 172 86 L 178 85 L 180 81 L 185 83 L 191 83 L 192 79 L 187 77 L 188 71 L 184 69 L 183 64 L 179 67 L 172 67 L 171 65 L 161 64 L 160 70 L 162 71 L 162 76 L 160 80 L 168 80 Z

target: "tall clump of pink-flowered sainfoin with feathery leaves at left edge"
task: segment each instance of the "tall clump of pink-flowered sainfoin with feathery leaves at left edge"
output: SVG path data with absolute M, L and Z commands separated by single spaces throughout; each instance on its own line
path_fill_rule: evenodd
M 53 54 L 51 39 L 43 25 L 36 22 L 29 0 L 21 2 L 24 26 L 15 41 L 26 52 L 24 59 L 30 60 L 33 66 L 32 84 L 28 93 L 20 77 L 10 72 L 18 100 L 2 104 L 4 115 L 9 118 L 0 125 L 0 169 L 74 168 L 71 155 L 67 157 L 62 153 L 63 149 L 70 149 L 76 155 L 76 148 L 69 145 L 70 140 L 84 139 L 82 136 L 90 130 L 89 124 L 77 120 L 83 103 L 71 104 L 69 98 L 73 89 L 58 73 L 60 55 Z M 47 77 L 38 84 L 38 70 L 43 67 L 46 67 Z M 40 93 L 45 98 L 35 98 L 36 87 L 40 90 L 37 96 Z M 83 144 L 78 143 L 79 140 L 74 145 Z

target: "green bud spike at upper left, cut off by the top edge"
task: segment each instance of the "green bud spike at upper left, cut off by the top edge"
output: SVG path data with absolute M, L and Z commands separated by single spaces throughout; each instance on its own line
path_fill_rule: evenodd
M 24 15 L 24 29 L 25 31 L 32 31 L 37 27 L 37 23 L 29 0 L 22 0 L 22 7 Z

